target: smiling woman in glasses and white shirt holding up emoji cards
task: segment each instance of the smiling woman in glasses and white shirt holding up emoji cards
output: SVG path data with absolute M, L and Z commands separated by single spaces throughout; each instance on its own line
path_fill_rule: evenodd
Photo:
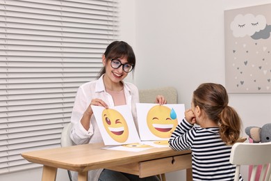
M 133 118 L 138 125 L 136 119 L 136 103 L 139 102 L 138 88 L 123 81 L 136 65 L 136 56 L 132 47 L 123 41 L 110 43 L 102 56 L 102 63 L 104 67 L 101 69 L 99 79 L 83 84 L 77 91 L 71 118 L 73 127 L 70 133 L 76 145 L 103 142 L 91 105 L 108 108 L 127 104 L 131 107 Z M 154 102 L 165 104 L 166 100 L 162 95 L 158 95 Z M 76 173 L 73 180 L 77 180 Z M 98 169 L 88 171 L 88 180 L 156 181 L 158 178 L 156 176 L 138 178 L 137 175 Z

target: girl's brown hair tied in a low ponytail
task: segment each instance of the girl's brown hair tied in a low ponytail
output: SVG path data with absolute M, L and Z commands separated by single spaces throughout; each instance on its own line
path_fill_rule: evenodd
M 240 136 L 241 120 L 238 113 L 228 106 L 226 88 L 220 84 L 201 84 L 193 93 L 195 107 L 203 109 L 209 119 L 220 125 L 220 137 L 227 145 L 236 143 Z

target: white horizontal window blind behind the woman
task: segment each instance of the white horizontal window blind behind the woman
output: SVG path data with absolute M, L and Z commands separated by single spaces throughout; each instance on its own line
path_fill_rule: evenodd
M 0 0 L 0 174 L 60 147 L 78 87 L 118 38 L 117 1 Z

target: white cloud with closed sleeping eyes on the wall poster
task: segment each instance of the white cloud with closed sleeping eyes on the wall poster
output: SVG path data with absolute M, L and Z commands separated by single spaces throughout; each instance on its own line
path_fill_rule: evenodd
M 253 36 L 266 27 L 266 19 L 263 15 L 236 15 L 231 22 L 231 30 L 234 37 Z

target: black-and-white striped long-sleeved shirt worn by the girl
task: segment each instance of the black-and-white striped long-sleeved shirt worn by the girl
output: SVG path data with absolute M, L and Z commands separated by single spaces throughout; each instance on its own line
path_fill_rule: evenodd
M 222 141 L 219 127 L 193 127 L 183 119 L 169 143 L 173 150 L 192 150 L 193 180 L 234 180 L 236 166 L 229 162 L 231 145 Z

